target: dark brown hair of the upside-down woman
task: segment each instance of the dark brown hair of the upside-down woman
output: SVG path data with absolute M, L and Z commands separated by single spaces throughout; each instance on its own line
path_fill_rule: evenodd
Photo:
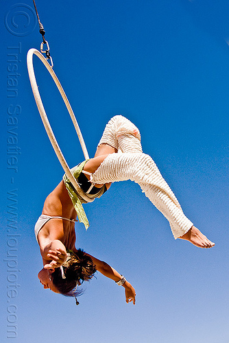
M 84 281 L 93 278 L 96 269 L 91 257 L 85 254 L 81 249 L 77 252 L 67 250 L 70 253 L 71 259 L 69 260 L 69 267 L 62 267 L 66 279 L 62 278 L 60 268 L 56 268 L 51 274 L 53 285 L 56 286 L 58 291 L 65 296 L 76 296 L 82 294 L 74 289 Z

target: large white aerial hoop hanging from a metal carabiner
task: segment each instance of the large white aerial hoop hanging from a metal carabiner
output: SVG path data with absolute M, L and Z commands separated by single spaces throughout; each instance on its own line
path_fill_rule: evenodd
M 88 196 L 86 196 L 86 194 L 80 188 L 80 185 L 78 185 L 77 181 L 75 180 L 75 178 L 74 178 L 74 176 L 73 176 L 73 174 L 69 168 L 69 165 L 67 164 L 67 161 L 65 160 L 64 155 L 62 154 L 62 151 L 60 150 L 58 142 L 56 141 L 56 137 L 53 134 L 53 130 L 51 129 L 49 119 L 47 118 L 47 114 L 45 113 L 45 108 L 43 106 L 43 102 L 41 100 L 40 93 L 38 91 L 38 85 L 36 83 L 36 77 L 35 77 L 34 66 L 33 66 L 33 55 L 36 55 L 36 56 L 38 56 L 38 58 L 40 58 L 41 62 L 43 62 L 43 64 L 45 65 L 45 67 L 49 71 L 51 77 L 53 78 L 53 81 L 55 82 L 56 86 L 58 87 L 60 95 L 62 96 L 62 99 L 64 100 L 64 104 L 66 105 L 67 110 L 69 111 L 69 115 L 71 117 L 71 120 L 73 121 L 75 131 L 77 132 L 77 136 L 80 140 L 80 145 L 82 146 L 84 157 L 85 157 L 85 159 L 89 158 L 88 152 L 86 150 L 86 145 L 84 143 L 84 139 L 83 139 L 82 133 L 80 131 L 80 127 L 78 126 L 78 123 L 75 119 L 75 115 L 73 113 L 71 105 L 69 104 L 69 100 L 67 99 L 67 96 L 64 93 L 64 89 L 62 88 L 62 86 L 60 84 L 60 81 L 58 80 L 58 78 L 57 78 L 56 74 L 54 73 L 49 62 L 47 62 L 45 57 L 42 54 L 40 54 L 40 51 L 38 51 L 37 49 L 29 49 L 29 51 L 27 52 L 27 69 L 28 69 L 28 73 L 29 73 L 29 80 L 30 80 L 30 83 L 32 86 L 32 91 L 34 93 L 36 106 L 38 107 L 40 117 L 41 117 L 43 124 L 45 126 L 45 130 L 47 132 L 47 135 L 49 137 L 51 145 L 53 146 L 53 149 L 56 152 L 56 156 L 58 157 L 58 160 L 60 161 L 60 164 L 62 165 L 62 167 L 65 171 L 65 174 L 67 175 L 67 177 L 71 181 L 73 187 L 75 187 L 76 191 L 80 194 L 80 196 L 82 196 L 82 198 L 84 200 L 86 200 L 86 202 L 92 202 L 94 199 L 88 198 Z

